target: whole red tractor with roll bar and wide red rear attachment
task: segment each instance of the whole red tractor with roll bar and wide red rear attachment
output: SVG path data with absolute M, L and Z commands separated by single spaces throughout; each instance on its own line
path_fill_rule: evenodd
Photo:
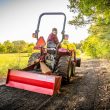
M 64 16 L 62 40 L 58 45 L 47 42 L 45 47 L 44 38 L 38 37 L 40 21 L 44 15 Z M 60 47 L 65 35 L 65 24 L 66 15 L 62 12 L 42 13 L 39 16 L 33 37 L 37 38 L 35 49 L 39 49 L 40 53 L 33 53 L 29 58 L 28 67 L 23 70 L 9 70 L 7 86 L 53 95 L 59 91 L 61 82 L 70 82 L 71 77 L 75 75 L 75 67 L 80 67 L 81 60 L 76 58 L 75 51 Z

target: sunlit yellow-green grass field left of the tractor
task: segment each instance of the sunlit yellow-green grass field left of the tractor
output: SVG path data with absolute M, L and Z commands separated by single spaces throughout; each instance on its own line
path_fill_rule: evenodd
M 27 66 L 28 53 L 0 54 L 0 76 L 6 77 L 8 69 L 22 69 Z

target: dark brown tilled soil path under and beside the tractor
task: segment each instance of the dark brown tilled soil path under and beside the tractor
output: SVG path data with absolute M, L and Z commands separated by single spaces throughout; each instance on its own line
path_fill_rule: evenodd
M 76 73 L 52 97 L 1 85 L 0 110 L 110 110 L 110 62 L 83 61 Z

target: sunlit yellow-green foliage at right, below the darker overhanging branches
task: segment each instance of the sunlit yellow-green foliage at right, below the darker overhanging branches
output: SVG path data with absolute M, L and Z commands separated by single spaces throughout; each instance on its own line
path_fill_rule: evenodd
M 89 36 L 83 45 L 83 50 L 92 57 L 110 58 L 110 25 L 94 24 L 89 29 Z M 95 49 L 95 51 L 93 50 Z M 94 53 L 94 54 L 93 54 Z

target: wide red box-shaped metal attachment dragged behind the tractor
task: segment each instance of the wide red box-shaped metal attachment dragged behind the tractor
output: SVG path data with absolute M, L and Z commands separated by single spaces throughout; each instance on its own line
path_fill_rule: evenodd
M 53 95 L 59 92 L 61 77 L 28 71 L 9 70 L 6 86 Z

